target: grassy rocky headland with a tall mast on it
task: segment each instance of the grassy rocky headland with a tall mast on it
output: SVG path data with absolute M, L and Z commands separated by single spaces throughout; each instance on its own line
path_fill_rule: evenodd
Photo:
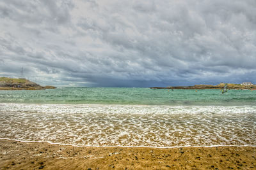
M 0 77 L 0 90 L 42 90 L 55 88 L 52 86 L 43 87 L 25 78 Z

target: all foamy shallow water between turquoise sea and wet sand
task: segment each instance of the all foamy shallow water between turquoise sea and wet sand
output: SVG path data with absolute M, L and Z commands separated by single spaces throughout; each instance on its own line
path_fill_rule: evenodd
M 0 104 L 0 138 L 76 146 L 256 145 L 256 106 Z

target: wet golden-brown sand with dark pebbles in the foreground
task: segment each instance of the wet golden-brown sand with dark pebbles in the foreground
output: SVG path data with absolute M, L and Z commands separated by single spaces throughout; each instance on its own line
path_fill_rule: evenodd
M 0 169 L 256 169 L 256 147 L 76 147 L 0 139 Z

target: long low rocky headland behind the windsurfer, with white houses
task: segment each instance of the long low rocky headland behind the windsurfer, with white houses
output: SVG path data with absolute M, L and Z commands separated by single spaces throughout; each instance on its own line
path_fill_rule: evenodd
M 175 86 L 175 87 L 150 87 L 150 89 L 223 89 L 225 83 L 220 83 L 218 85 L 193 85 L 193 86 Z M 228 83 L 228 89 L 236 89 L 236 90 L 256 90 L 256 85 L 241 85 Z

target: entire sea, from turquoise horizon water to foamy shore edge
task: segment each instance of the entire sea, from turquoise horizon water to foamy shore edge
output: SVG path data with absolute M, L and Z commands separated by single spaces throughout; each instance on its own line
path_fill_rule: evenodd
M 256 90 L 0 90 L 0 138 L 74 146 L 256 146 Z

